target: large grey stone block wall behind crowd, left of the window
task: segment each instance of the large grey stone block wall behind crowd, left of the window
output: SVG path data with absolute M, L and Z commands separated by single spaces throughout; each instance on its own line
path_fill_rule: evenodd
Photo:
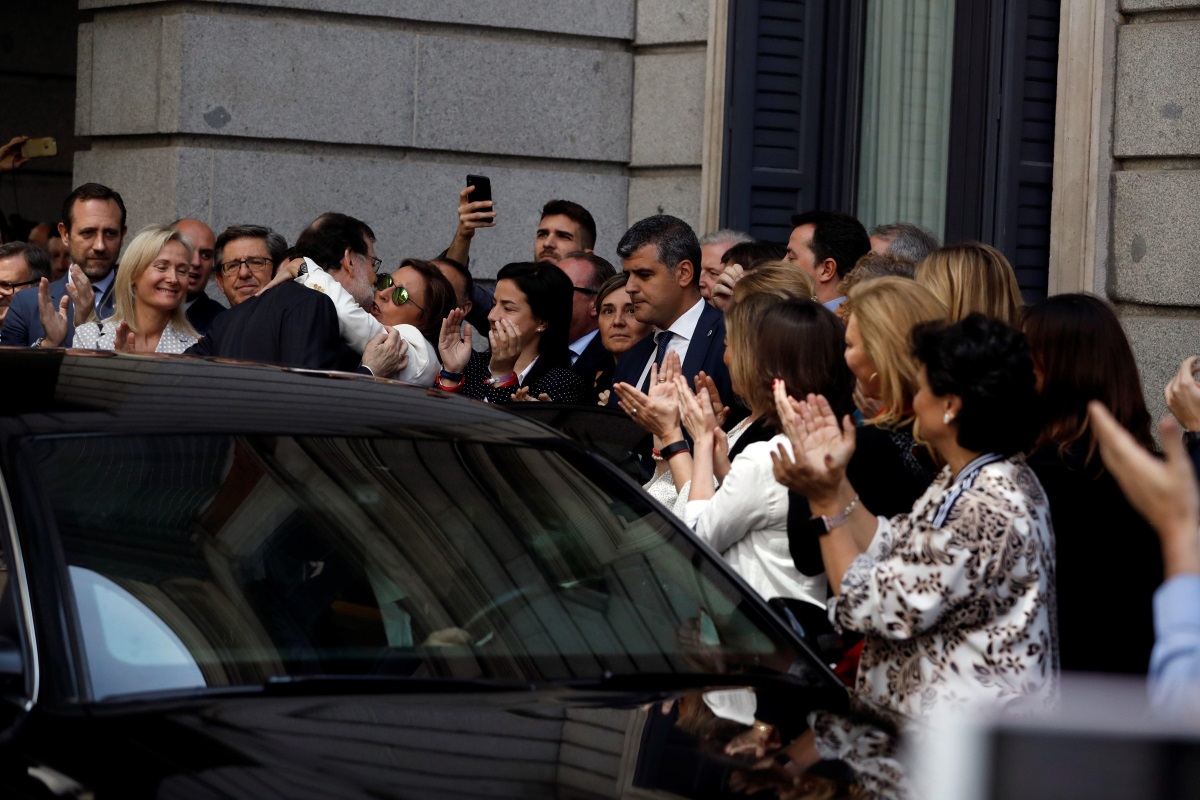
M 478 275 L 530 257 L 553 197 L 593 212 L 596 249 L 611 258 L 630 217 L 631 161 L 666 168 L 668 182 L 680 168 L 698 175 L 701 122 L 674 119 L 677 136 L 696 128 L 682 149 L 638 144 L 646 155 L 631 160 L 635 0 L 552 5 L 82 0 L 94 20 L 79 30 L 77 132 L 91 150 L 74 180 L 120 191 L 131 230 L 187 215 L 294 239 L 318 213 L 344 211 L 395 263 L 449 243 L 457 192 L 481 173 L 498 225 L 476 235 Z M 703 22 L 703 0 L 673 5 Z M 654 42 L 670 37 L 653 14 L 643 24 Z M 703 24 L 692 28 L 702 50 Z

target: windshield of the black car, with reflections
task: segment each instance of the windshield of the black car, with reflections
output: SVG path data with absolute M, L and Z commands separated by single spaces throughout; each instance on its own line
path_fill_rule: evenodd
M 301 675 L 828 680 L 642 493 L 554 443 L 26 444 L 94 699 Z

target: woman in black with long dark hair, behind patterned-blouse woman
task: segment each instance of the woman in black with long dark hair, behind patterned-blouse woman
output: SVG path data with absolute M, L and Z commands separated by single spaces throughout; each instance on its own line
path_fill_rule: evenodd
M 1090 295 L 1026 308 L 1025 335 L 1042 410 L 1028 462 L 1054 518 L 1062 668 L 1144 675 L 1162 553 L 1104 469 L 1087 416 L 1087 403 L 1100 401 L 1142 447 L 1154 449 L 1138 363 L 1116 314 Z

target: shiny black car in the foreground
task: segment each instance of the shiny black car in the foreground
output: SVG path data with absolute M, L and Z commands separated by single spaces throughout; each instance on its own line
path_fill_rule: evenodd
M 722 796 L 763 698 L 847 704 L 535 421 L 187 357 L 0 374 L 0 796 Z

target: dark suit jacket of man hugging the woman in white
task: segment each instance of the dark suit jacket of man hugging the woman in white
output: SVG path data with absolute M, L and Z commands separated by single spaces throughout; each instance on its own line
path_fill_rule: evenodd
M 217 315 L 212 330 L 187 355 L 306 369 L 344 369 L 348 363 L 334 301 L 290 281 Z

